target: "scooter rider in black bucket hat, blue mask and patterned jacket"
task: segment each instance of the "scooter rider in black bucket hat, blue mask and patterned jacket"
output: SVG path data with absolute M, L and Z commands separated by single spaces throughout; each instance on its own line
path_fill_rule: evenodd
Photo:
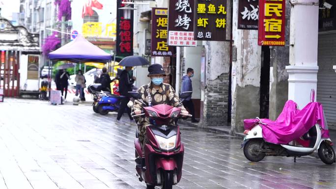
M 172 86 L 167 83 L 163 83 L 163 78 L 166 76 L 163 67 L 160 64 L 152 64 L 148 67 L 148 77 L 151 78 L 151 82 L 143 85 L 139 88 L 138 92 L 141 94 L 141 99 L 148 106 L 155 106 L 159 104 L 167 104 L 170 106 L 177 106 L 180 102 L 179 97 L 176 95 Z M 189 114 L 189 112 L 182 106 L 179 105 L 181 113 Z M 133 106 L 134 114 L 138 115 L 141 113 L 142 104 L 135 100 Z M 136 117 L 136 121 L 139 128 L 139 140 L 142 147 L 146 143 L 146 127 L 150 124 L 149 118 Z M 175 125 L 174 121 L 171 122 Z

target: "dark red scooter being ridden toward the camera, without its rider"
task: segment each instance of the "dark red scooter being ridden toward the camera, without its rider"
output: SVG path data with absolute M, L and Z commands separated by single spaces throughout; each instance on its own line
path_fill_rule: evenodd
M 137 92 L 129 92 L 134 99 L 141 102 L 141 95 Z M 184 92 L 181 99 L 190 96 L 191 92 Z M 180 102 L 180 104 L 183 100 Z M 179 126 L 169 124 L 181 116 L 191 116 L 182 114 L 181 108 L 168 106 L 165 104 L 153 107 L 144 106 L 141 114 L 133 116 L 148 117 L 152 126 L 146 128 L 147 142 L 141 148 L 137 130 L 135 139 L 136 170 L 139 180 L 144 181 L 147 189 L 154 189 L 161 186 L 162 189 L 172 189 L 182 177 L 182 164 L 184 155 L 184 145 L 181 143 Z M 142 150 L 144 149 L 144 157 Z

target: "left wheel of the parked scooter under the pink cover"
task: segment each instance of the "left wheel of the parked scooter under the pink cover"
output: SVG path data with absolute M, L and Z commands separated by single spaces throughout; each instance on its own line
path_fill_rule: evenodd
M 251 162 L 259 162 L 264 159 L 265 153 L 259 152 L 262 142 L 260 139 L 250 139 L 244 145 L 244 155 Z

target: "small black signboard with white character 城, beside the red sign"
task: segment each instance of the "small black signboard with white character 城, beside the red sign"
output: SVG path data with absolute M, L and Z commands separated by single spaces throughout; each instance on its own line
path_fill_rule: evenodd
M 258 29 L 259 0 L 239 0 L 238 29 Z

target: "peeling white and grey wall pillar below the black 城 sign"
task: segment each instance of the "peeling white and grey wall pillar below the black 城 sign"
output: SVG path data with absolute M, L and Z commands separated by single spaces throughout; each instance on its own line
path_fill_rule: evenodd
M 238 0 L 233 0 L 233 45 L 236 57 L 232 61 L 231 132 L 242 132 L 243 119 L 259 116 L 261 47 L 257 45 L 257 30 L 237 29 Z

